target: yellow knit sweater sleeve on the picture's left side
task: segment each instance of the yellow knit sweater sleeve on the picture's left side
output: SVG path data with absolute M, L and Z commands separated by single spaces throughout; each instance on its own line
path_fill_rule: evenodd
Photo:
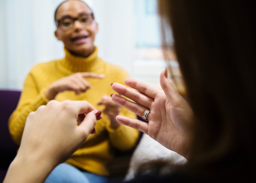
M 33 70 L 33 69 L 32 69 Z M 33 72 L 27 75 L 17 108 L 9 118 L 9 131 L 15 143 L 20 144 L 27 116 L 30 112 L 36 111 L 41 105 L 49 101 L 45 90 L 39 90 Z

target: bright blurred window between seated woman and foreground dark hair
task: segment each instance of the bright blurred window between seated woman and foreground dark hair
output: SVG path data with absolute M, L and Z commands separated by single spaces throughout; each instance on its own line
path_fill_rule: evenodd
M 157 1 L 134 0 L 134 8 L 136 46 L 134 50 L 133 77 L 160 88 L 159 75 L 165 69 L 166 63 L 161 51 Z M 170 63 L 174 69 L 178 69 L 176 61 L 172 60 Z

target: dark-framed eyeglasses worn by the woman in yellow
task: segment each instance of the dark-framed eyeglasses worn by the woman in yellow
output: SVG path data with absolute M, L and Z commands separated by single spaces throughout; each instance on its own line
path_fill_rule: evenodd
M 64 16 L 61 19 L 55 21 L 56 27 L 59 27 L 62 31 L 72 30 L 74 28 L 74 22 L 78 20 L 84 27 L 90 25 L 94 20 L 93 13 L 82 14 L 79 17 L 72 18 L 70 16 Z

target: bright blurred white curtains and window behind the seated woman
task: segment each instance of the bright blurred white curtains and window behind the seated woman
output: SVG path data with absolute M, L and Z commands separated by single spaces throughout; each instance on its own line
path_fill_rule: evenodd
M 0 89 L 21 90 L 37 63 L 64 56 L 54 36 L 62 0 L 0 0 Z M 84 0 L 99 24 L 99 56 L 131 77 L 160 88 L 165 69 L 156 0 Z M 171 62 L 174 67 L 176 62 Z

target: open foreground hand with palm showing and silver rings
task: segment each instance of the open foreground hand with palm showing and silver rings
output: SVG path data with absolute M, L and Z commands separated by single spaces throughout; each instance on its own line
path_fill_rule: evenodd
M 112 100 L 128 110 L 142 116 L 149 108 L 148 123 L 124 116 L 116 116 L 116 120 L 124 125 L 136 128 L 180 155 L 187 157 L 190 145 L 190 127 L 193 121 L 193 112 L 189 104 L 183 99 L 164 71 L 160 75 L 160 84 L 163 91 L 153 88 L 145 83 L 131 78 L 125 80 L 125 84 L 113 83 L 114 91 L 119 95 L 112 95 Z

